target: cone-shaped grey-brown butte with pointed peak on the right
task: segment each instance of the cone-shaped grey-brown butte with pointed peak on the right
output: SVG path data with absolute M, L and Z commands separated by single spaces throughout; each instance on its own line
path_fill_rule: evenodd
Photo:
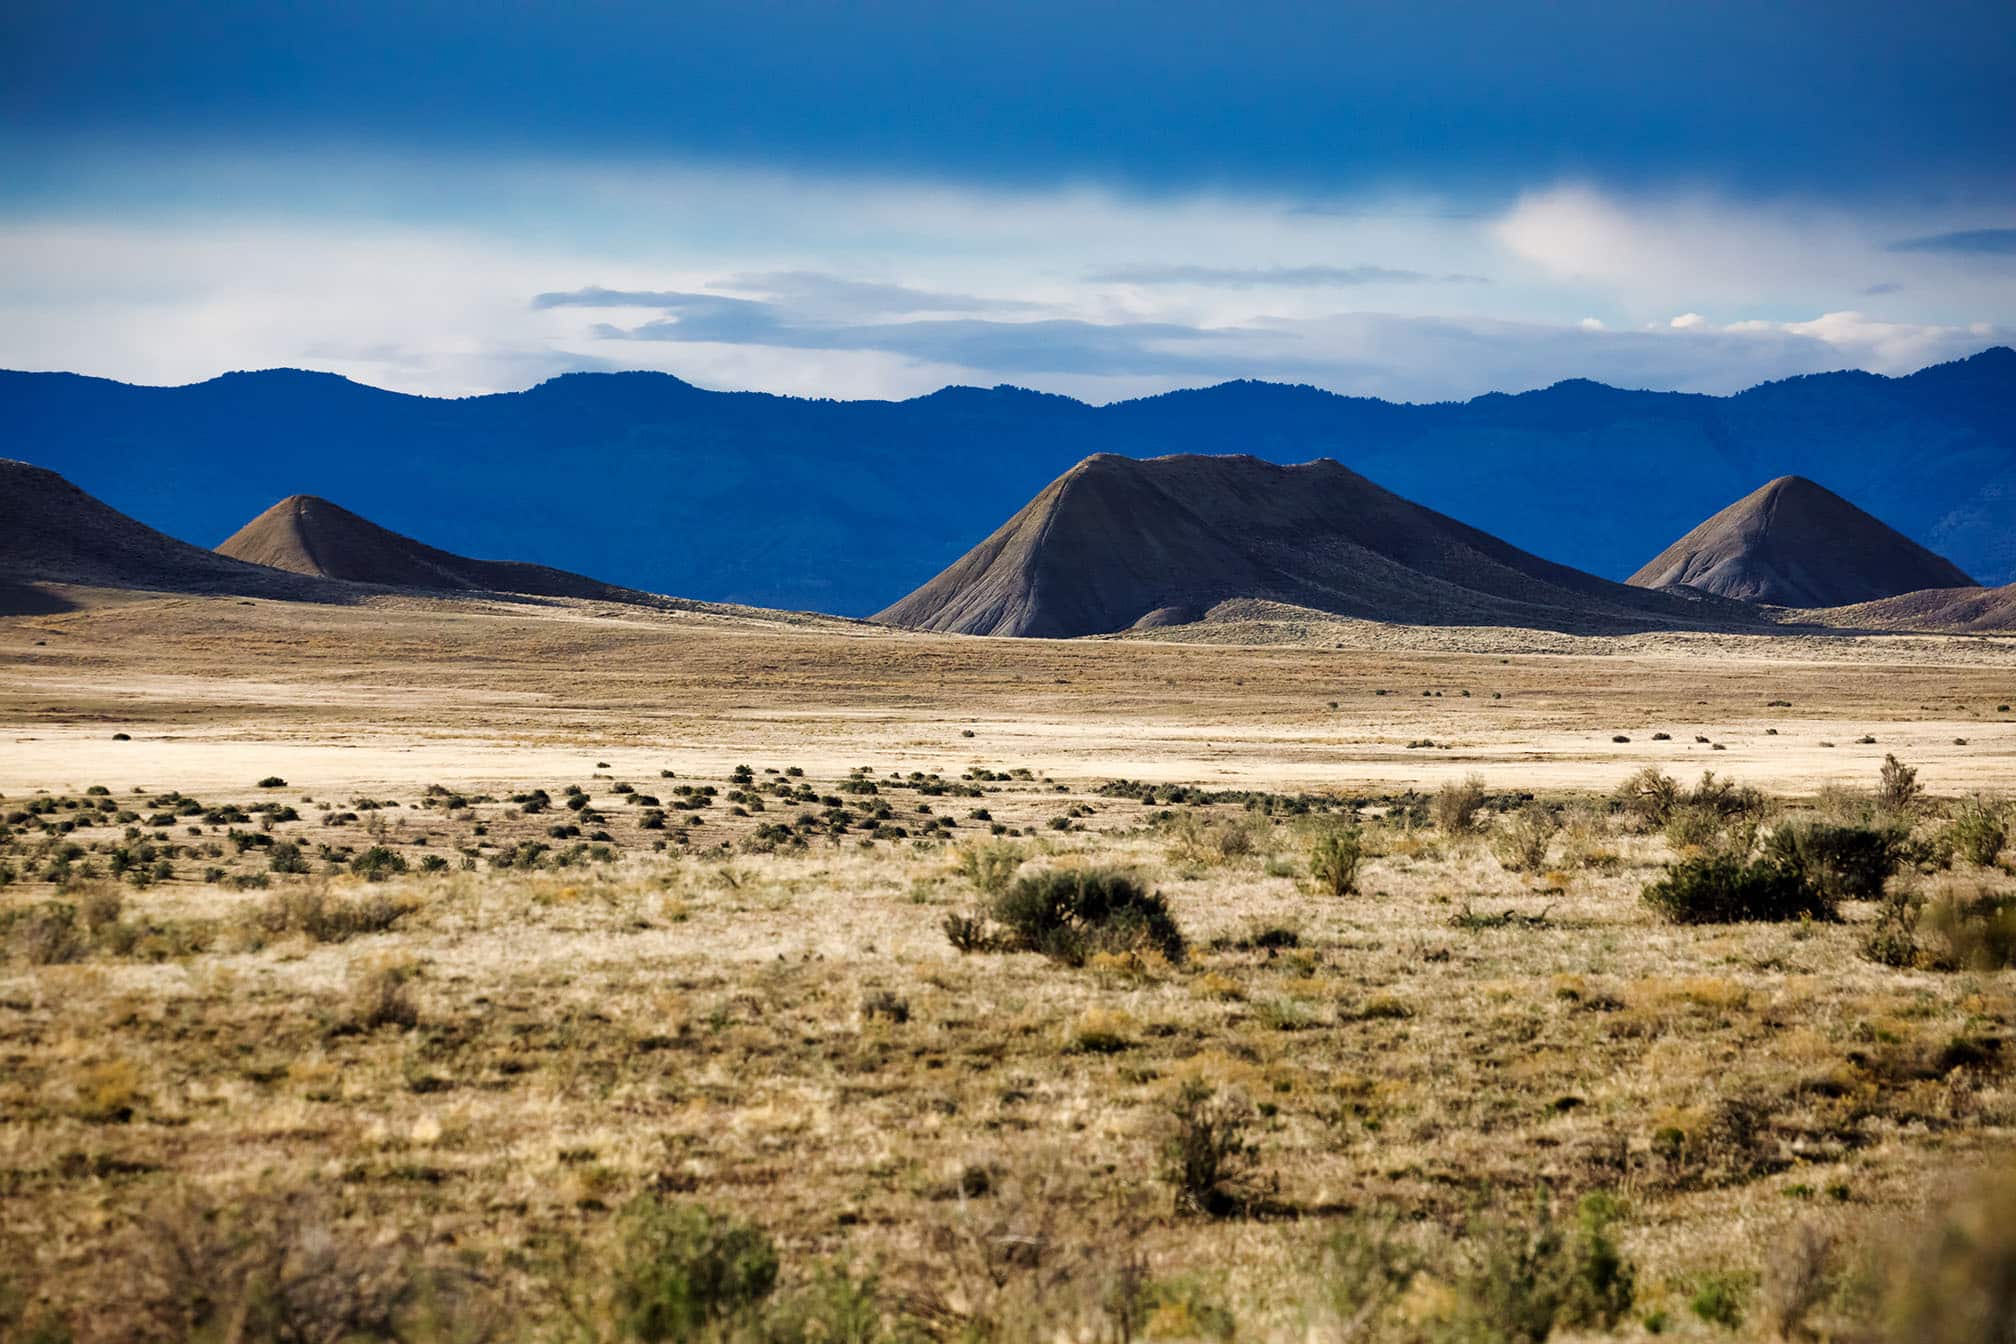
M 1625 582 L 1774 607 L 1847 607 L 1976 586 L 1951 560 L 1802 476 L 1746 494 Z

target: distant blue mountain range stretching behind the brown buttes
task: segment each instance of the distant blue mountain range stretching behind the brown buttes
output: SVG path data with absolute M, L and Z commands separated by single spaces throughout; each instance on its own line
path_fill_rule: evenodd
M 1226 383 L 1089 407 L 998 387 L 913 401 L 710 393 L 651 373 L 405 397 L 333 375 L 129 387 L 0 373 L 6 451 L 216 544 L 294 492 L 401 534 L 681 596 L 867 615 L 1095 453 L 1335 457 L 1548 560 L 1623 578 L 1798 474 L 1984 582 L 2016 578 L 2016 353 L 1734 397 L 1570 381 L 1393 405 Z

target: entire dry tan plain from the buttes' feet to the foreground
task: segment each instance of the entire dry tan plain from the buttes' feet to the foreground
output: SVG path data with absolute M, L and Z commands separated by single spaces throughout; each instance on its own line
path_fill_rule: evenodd
M 2016 649 L 1347 635 L 0 621 L 0 1332 L 2008 1338 Z

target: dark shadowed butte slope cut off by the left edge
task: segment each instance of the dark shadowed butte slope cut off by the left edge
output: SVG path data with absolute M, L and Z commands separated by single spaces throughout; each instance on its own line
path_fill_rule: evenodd
M 0 613 L 71 607 L 38 584 L 341 602 L 341 584 L 280 574 L 177 542 L 54 472 L 0 457 Z

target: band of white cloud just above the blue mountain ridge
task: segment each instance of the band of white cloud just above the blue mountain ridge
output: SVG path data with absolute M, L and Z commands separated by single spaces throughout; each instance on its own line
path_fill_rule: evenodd
M 504 191 L 468 185 L 480 206 Z M 1951 284 L 1907 274 L 1921 258 L 1903 254 L 1885 254 L 1881 274 L 1909 284 L 1865 296 L 1857 250 L 1891 226 L 1804 238 L 1808 216 L 1710 197 L 1659 206 L 1560 189 L 1500 220 L 1466 220 L 1415 201 L 1322 214 L 1258 197 L 734 171 L 566 169 L 540 185 L 538 199 L 564 201 L 566 222 L 508 212 L 482 226 L 244 212 L 0 220 L 0 367 L 177 383 L 298 365 L 437 395 L 649 367 L 706 387 L 831 397 L 1014 381 L 1105 401 L 1272 377 L 1447 399 L 1566 377 L 1736 391 L 1822 369 L 1899 373 L 1980 349 L 2016 314 L 2016 294 L 1992 278 L 1954 298 Z M 1377 270 L 1492 284 L 1393 282 Z M 1837 270 L 1853 290 L 1829 280 Z M 1343 272 L 1365 284 L 1286 282 Z M 587 288 L 631 302 L 532 302 Z M 1861 306 L 1847 310 L 1837 290 Z M 611 337 L 661 320 L 653 296 L 667 294 L 687 306 L 748 294 L 742 312 L 772 324 L 696 324 L 700 341 L 675 328 Z M 1056 349 L 1030 353 L 1044 328 L 1016 324 L 1032 320 L 1054 324 Z

